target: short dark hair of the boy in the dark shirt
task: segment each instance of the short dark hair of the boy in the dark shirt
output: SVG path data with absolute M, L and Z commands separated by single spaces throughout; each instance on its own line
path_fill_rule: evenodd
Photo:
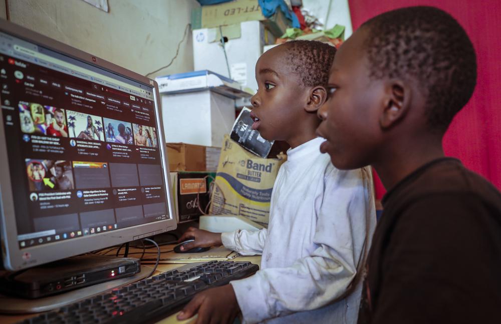
M 414 78 L 426 93 L 432 131 L 444 132 L 476 84 L 476 56 L 464 29 L 446 12 L 409 7 L 362 25 L 373 78 Z

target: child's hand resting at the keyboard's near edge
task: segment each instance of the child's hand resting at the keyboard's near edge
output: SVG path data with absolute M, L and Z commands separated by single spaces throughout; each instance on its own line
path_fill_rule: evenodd
M 179 312 L 177 319 L 188 319 L 198 313 L 196 324 L 231 324 L 239 312 L 240 307 L 233 287 L 231 284 L 226 284 L 196 294 Z

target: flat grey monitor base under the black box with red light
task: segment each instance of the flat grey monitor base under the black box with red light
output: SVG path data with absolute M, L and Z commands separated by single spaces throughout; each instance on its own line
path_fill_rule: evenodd
M 88 257 L 90 258 L 92 258 L 93 256 L 97 255 L 88 255 Z M 102 261 L 101 257 L 99 259 L 101 259 L 100 261 Z M 67 262 L 64 264 L 64 266 L 68 266 Z M 91 297 L 93 295 L 100 294 L 104 291 L 111 290 L 113 288 L 124 286 L 134 281 L 143 279 L 151 272 L 151 270 L 151 267 L 142 265 L 141 272 L 138 272 L 132 276 L 97 283 L 91 286 L 38 299 L 25 299 L 16 296 L 0 294 L 0 313 L 36 313 L 63 307 L 76 301 L 87 299 L 88 297 Z

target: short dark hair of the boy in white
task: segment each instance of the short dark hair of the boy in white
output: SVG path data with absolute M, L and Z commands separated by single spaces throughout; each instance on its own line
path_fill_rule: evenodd
M 318 41 L 290 41 L 286 60 L 306 87 L 326 86 L 336 48 Z

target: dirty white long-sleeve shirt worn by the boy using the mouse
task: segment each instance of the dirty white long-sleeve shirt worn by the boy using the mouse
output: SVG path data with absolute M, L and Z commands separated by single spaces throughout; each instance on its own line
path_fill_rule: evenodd
M 356 323 L 376 223 L 369 168 L 336 169 L 323 139 L 290 149 L 275 181 L 268 229 L 222 233 L 227 248 L 262 254 L 232 281 L 244 323 Z

